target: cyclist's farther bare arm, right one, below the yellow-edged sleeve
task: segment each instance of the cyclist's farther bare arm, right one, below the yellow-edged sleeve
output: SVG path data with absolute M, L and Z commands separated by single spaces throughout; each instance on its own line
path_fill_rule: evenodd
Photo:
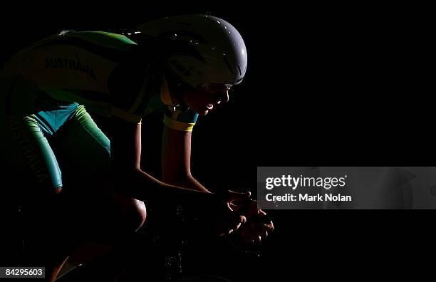
M 191 174 L 190 131 L 164 126 L 162 137 L 162 179 L 164 182 L 209 192 Z

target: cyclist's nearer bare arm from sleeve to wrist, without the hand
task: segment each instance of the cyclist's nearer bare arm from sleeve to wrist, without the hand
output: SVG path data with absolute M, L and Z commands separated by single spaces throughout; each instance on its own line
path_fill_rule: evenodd
M 211 199 L 212 194 L 177 187 L 155 179 L 140 168 L 141 125 L 112 117 L 111 157 L 115 184 L 120 192 L 141 200 L 169 202 L 202 201 Z

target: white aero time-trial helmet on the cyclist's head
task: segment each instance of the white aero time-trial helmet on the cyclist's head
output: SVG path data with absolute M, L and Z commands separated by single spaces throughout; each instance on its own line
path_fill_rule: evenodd
M 246 48 L 230 23 L 214 16 L 187 15 L 157 19 L 137 26 L 140 36 L 167 41 L 167 65 L 179 80 L 199 85 L 241 83 Z M 167 46 L 165 46 L 167 45 Z

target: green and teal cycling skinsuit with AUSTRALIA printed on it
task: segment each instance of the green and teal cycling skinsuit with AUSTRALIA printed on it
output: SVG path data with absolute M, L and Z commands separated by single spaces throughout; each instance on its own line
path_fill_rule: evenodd
M 135 124 L 162 111 L 167 127 L 191 131 L 198 115 L 173 107 L 159 48 L 143 45 L 115 33 L 67 31 L 12 57 L 0 72 L 5 176 L 56 188 L 64 167 L 82 177 L 107 169 L 110 141 L 87 110 Z

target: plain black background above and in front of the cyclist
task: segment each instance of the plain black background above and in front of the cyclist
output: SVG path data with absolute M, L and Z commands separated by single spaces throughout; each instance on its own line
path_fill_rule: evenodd
M 435 164 L 428 7 L 56 5 L 24 4 L 1 19 L 2 61 L 64 29 L 110 31 L 175 14 L 212 14 L 239 30 L 249 56 L 246 78 L 230 102 L 199 120 L 193 133 L 192 172 L 212 190 L 255 192 L 258 166 Z M 143 165 L 155 174 L 159 154 L 147 148 L 158 145 L 159 137 L 143 137 Z M 238 268 L 232 259 L 232 265 L 222 262 L 225 254 L 204 259 L 223 276 L 255 280 L 270 273 L 269 281 L 299 274 L 306 279 L 411 274 L 416 279 L 430 270 L 424 254 L 434 254 L 433 212 L 271 214 L 276 232 L 261 246 L 259 261 L 241 262 Z M 412 261 L 420 263 L 419 271 Z M 251 274 L 242 275 L 245 271 Z

